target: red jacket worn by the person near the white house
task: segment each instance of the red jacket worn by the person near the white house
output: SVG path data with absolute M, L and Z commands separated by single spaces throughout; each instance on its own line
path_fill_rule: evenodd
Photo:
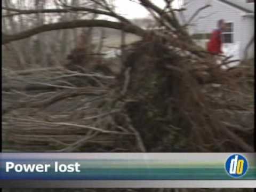
M 223 53 L 221 51 L 221 45 L 222 45 L 221 30 L 219 29 L 214 30 L 211 35 L 210 42 L 207 44 L 207 51 L 213 54 Z

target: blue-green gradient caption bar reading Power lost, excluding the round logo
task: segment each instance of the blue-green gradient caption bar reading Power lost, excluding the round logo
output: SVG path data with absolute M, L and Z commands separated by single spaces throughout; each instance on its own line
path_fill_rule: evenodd
M 225 169 L 227 159 L 231 155 L 233 154 L 2 153 L 0 155 L 0 179 L 1 181 L 256 180 L 255 154 L 240 154 L 246 158 L 249 166 L 246 174 L 238 179 L 230 177 Z M 55 166 L 57 165 L 55 162 L 58 162 L 58 166 Z M 6 172 L 7 164 L 9 165 L 9 172 Z M 31 169 L 30 171 L 28 169 L 29 164 L 31 165 L 30 168 L 33 164 L 42 164 L 42 166 L 39 166 L 39 172 L 30 172 Z M 79 165 L 79 167 L 75 165 Z M 62 168 L 60 170 L 56 169 L 59 166 Z M 25 172 L 25 169 L 28 172 Z

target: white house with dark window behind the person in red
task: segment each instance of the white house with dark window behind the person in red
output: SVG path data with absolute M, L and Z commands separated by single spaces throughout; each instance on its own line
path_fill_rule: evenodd
M 225 19 L 223 51 L 236 58 L 254 58 L 254 0 L 183 0 L 186 9 L 179 13 L 190 34 L 206 44 L 217 21 Z M 205 5 L 210 5 L 201 9 Z M 200 10 L 200 11 L 199 11 Z M 197 14 L 198 13 L 198 14 Z M 195 16 L 195 17 L 194 17 Z M 189 20 L 193 18 L 190 22 Z M 188 23 L 189 22 L 189 23 Z M 203 39 L 203 40 L 202 40 Z M 246 54 L 245 54 L 246 53 Z

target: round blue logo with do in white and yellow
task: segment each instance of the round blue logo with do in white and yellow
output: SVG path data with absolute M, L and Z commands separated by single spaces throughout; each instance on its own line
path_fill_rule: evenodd
M 239 154 L 228 157 L 226 161 L 226 171 L 233 178 L 243 177 L 248 169 L 247 159 Z

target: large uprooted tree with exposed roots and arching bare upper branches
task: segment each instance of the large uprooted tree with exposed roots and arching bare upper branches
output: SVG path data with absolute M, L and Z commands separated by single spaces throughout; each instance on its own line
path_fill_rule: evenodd
M 223 70 L 233 61 L 221 55 L 216 65 L 179 23 L 176 12 L 182 10 L 172 9 L 172 1 L 164 9 L 149 0 L 137 1 L 164 32 L 142 29 L 106 0 L 87 2 L 93 8 L 64 3 L 60 9 L 3 7 L 9 12 L 5 17 L 86 12 L 117 21 L 48 23 L 2 34 L 2 45 L 45 31 L 85 27 L 113 28 L 142 38 L 124 46 L 118 75 L 66 67 L 3 71 L 4 100 L 13 94 L 20 98 L 3 109 L 5 150 L 253 151 L 252 66 Z M 75 53 L 69 65 L 79 62 L 83 68 L 93 60 Z

